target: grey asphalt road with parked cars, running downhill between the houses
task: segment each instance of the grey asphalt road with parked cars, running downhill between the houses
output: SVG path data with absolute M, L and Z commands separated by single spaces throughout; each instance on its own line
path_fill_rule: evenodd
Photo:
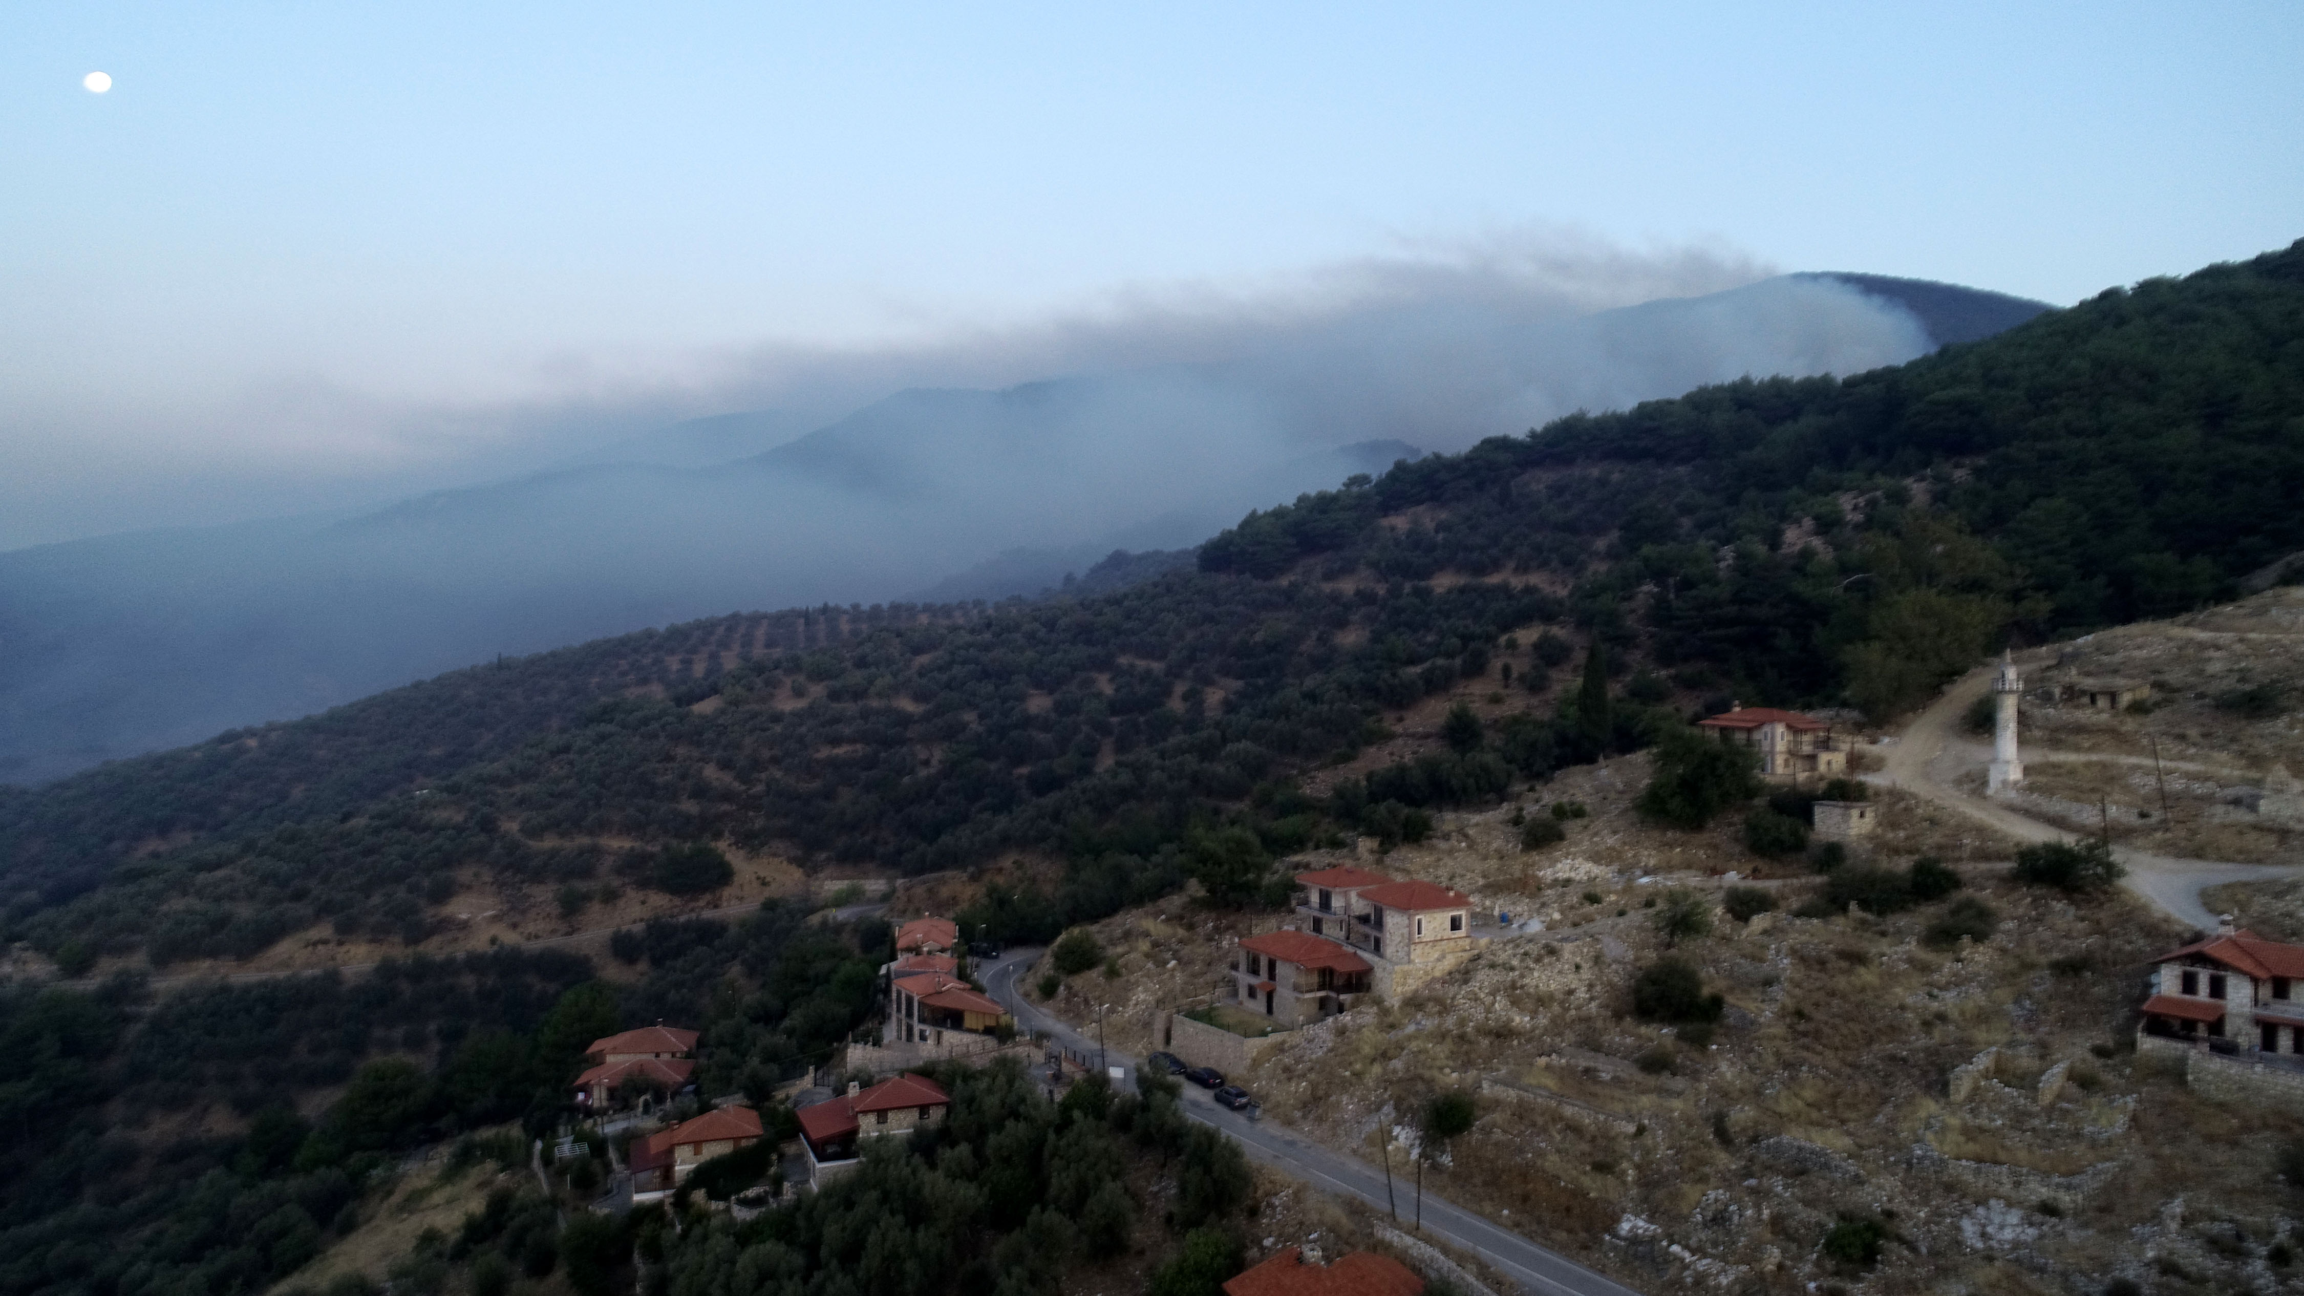
M 1000 999 L 1000 1003 L 1007 1003 L 1018 1024 L 1034 1031 L 1048 1031 L 1074 1049 L 1094 1052 L 1097 1040 L 1092 1035 L 1074 1031 L 1055 1015 L 1041 1010 L 1023 996 L 1016 978 L 1023 969 L 1032 966 L 1032 959 L 1037 957 L 1039 950 L 1009 950 L 1000 962 L 977 964 L 977 973 L 984 978 L 984 985 L 993 992 L 993 996 Z M 1108 1052 L 1106 1061 L 1111 1065 L 1129 1068 L 1129 1077 L 1136 1075 L 1138 1058 Z M 1240 1112 L 1219 1107 L 1207 1091 L 1196 1084 L 1184 1086 L 1184 1114 L 1203 1125 L 1223 1130 L 1263 1165 L 1302 1178 L 1313 1188 L 1339 1192 L 1343 1197 L 1359 1197 L 1378 1211 L 1387 1208 L 1385 1171 L 1350 1153 L 1339 1153 L 1336 1148 L 1316 1144 L 1290 1132 L 1286 1125 L 1249 1121 Z M 1403 1178 L 1396 1185 L 1396 1192 L 1401 1201 L 1401 1218 L 1415 1220 L 1412 1178 Z M 1440 1199 L 1431 1190 L 1424 1192 L 1424 1231 L 1463 1252 L 1481 1257 L 1495 1266 L 1498 1273 L 1509 1275 L 1521 1284 L 1521 1289 L 1537 1296 L 1634 1296 L 1631 1287 L 1592 1273 L 1560 1252 L 1539 1248 L 1521 1234 L 1500 1229 L 1488 1220 Z

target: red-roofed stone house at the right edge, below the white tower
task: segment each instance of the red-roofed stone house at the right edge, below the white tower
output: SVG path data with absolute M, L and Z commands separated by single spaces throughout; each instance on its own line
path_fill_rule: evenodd
M 2198 1047 L 2304 1068 L 2304 945 L 2226 918 L 2212 936 L 2152 959 L 2136 1047 Z

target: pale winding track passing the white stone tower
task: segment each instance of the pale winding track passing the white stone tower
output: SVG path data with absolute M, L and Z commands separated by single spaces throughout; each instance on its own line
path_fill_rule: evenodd
M 1961 736 L 1961 717 L 1968 713 L 1970 703 L 1984 696 L 1991 687 L 1993 669 L 1995 666 L 1991 664 L 1979 666 L 1945 690 L 1945 696 L 1935 699 L 1933 706 L 1912 717 L 1903 738 L 1887 749 L 1882 770 L 1864 777 L 1866 782 L 1896 786 L 1928 798 L 1947 809 L 1956 809 L 1979 823 L 1988 823 L 2000 832 L 2007 832 L 2018 842 L 2071 842 L 2074 832 L 2067 832 L 2064 828 L 2041 823 L 2039 819 L 2018 814 L 2007 805 L 1968 796 L 1954 786 L 1954 779 L 1961 773 L 1972 770 L 1988 759 L 1984 747 L 1972 745 Z M 2057 756 L 2085 759 L 2083 752 L 2057 752 Z M 2120 879 L 2120 886 L 2191 927 L 2216 925 L 2216 916 L 2200 904 L 2203 888 L 2228 881 L 2263 881 L 2304 874 L 2304 869 L 2281 865 L 2186 860 L 2177 856 L 2157 856 L 2152 851 L 2134 851 L 2129 846 L 2113 846 L 2113 858 L 2129 869 L 2129 874 Z

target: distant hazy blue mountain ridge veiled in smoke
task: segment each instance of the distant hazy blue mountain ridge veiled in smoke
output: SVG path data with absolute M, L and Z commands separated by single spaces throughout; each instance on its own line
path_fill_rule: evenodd
M 696 616 L 1037 593 L 1412 447 L 1873 369 L 2037 309 L 1839 274 L 1567 321 L 1380 311 L 1210 364 L 899 392 L 806 436 L 776 413 L 696 420 L 362 517 L 0 553 L 0 779 Z

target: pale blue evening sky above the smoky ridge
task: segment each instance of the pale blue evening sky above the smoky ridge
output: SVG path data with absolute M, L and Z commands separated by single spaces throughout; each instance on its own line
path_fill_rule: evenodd
M 0 549 L 1433 277 L 2067 304 L 2304 235 L 2297 67 L 2292 2 L 16 0 Z

